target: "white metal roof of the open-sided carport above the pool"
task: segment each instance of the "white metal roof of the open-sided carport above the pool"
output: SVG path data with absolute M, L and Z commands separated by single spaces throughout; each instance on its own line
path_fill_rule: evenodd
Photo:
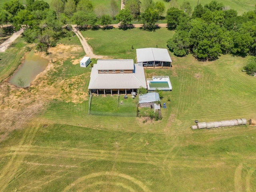
M 162 48 L 142 48 L 136 49 L 137 62 L 164 61 L 172 62 L 167 49 Z

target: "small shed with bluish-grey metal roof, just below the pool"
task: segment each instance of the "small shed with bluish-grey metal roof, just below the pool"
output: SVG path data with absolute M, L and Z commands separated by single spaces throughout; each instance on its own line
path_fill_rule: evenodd
M 159 94 L 157 92 L 151 92 L 139 95 L 140 107 L 153 107 L 155 102 L 160 101 Z

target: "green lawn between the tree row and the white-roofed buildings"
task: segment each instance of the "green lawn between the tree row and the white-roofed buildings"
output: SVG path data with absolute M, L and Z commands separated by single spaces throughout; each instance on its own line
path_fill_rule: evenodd
M 81 31 L 81 33 L 88 38 L 88 44 L 92 46 L 94 53 L 114 58 L 134 59 L 134 61 L 136 61 L 137 48 L 156 46 L 166 48 L 166 41 L 174 34 L 166 28 L 157 29 L 156 32 L 134 28 L 130 30 L 88 30 Z

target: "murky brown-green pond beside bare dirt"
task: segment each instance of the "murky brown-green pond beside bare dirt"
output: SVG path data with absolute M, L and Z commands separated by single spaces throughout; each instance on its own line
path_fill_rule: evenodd
M 36 76 L 42 72 L 48 64 L 48 60 L 36 55 L 34 50 L 30 51 L 22 66 L 12 75 L 9 83 L 17 87 L 28 87 Z

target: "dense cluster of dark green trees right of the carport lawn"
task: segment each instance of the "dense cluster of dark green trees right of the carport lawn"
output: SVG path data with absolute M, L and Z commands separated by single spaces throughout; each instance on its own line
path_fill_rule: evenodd
M 167 46 L 176 56 L 191 53 L 198 60 L 216 60 L 220 54 L 256 55 L 256 6 L 238 16 L 236 10 L 214 0 L 198 4 L 190 13 L 170 8 L 166 20 L 175 30 Z

